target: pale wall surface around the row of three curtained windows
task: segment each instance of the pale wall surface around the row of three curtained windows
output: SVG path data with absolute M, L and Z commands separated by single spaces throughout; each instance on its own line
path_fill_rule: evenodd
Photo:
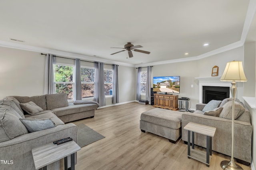
M 0 99 L 6 96 L 42 95 L 45 60 L 46 56 L 37 52 L 0 47 Z M 93 66 L 88 62 L 81 64 Z M 112 68 L 109 65 L 106 67 Z M 119 66 L 118 71 L 119 102 L 133 101 L 135 68 Z M 107 98 L 106 105 L 111 104 L 112 98 Z

